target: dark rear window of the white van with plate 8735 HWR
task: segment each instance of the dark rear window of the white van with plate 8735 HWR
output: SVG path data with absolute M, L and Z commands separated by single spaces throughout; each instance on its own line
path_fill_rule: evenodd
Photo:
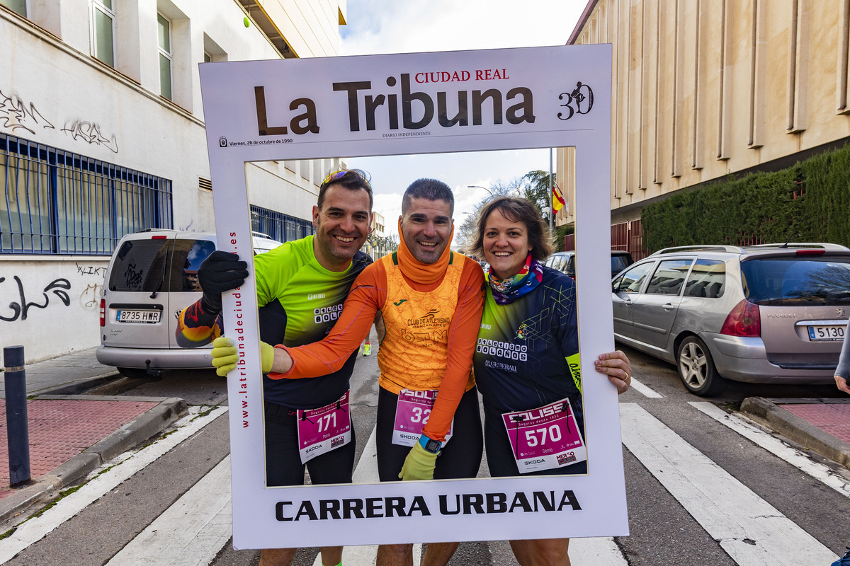
M 153 293 L 200 291 L 198 266 L 215 249 L 209 240 L 132 239 L 116 251 L 108 289 Z

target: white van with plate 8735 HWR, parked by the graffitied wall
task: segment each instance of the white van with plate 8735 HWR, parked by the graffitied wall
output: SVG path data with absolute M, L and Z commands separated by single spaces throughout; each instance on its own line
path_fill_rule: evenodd
M 254 254 L 281 245 L 253 233 Z M 214 233 L 152 229 L 127 234 L 106 270 L 98 361 L 130 378 L 164 369 L 212 367 L 211 345 L 177 345 L 177 315 L 201 298 L 198 267 L 216 249 Z

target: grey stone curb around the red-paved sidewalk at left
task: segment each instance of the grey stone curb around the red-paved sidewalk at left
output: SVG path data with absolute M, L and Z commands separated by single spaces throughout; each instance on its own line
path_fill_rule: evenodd
M 131 400 L 127 397 L 97 397 L 92 395 L 39 395 L 39 398 Z M 161 433 L 171 423 L 183 417 L 189 411 L 186 401 L 178 397 L 166 399 L 145 397 L 144 401 L 159 401 L 159 404 L 125 424 L 121 429 L 117 429 L 94 446 L 89 446 L 68 462 L 54 468 L 49 474 L 43 475 L 36 480 L 36 483 L 0 500 L 0 523 L 9 518 L 14 518 L 28 507 L 47 501 L 59 490 L 84 478 L 105 462 L 109 462 L 112 458 L 130 450 L 133 446 L 139 446 L 145 440 Z

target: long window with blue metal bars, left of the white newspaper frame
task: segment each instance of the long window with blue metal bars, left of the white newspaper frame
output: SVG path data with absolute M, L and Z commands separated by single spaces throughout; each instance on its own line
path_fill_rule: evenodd
M 110 255 L 124 234 L 173 226 L 172 183 L 0 134 L 0 254 Z

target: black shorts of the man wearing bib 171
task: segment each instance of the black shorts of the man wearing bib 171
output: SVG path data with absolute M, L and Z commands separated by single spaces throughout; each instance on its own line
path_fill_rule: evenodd
M 310 482 L 350 484 L 354 471 L 354 423 L 351 442 L 335 448 L 305 464 L 298 454 L 296 410 L 276 403 L 265 403 L 266 485 L 304 485 L 304 468 Z

